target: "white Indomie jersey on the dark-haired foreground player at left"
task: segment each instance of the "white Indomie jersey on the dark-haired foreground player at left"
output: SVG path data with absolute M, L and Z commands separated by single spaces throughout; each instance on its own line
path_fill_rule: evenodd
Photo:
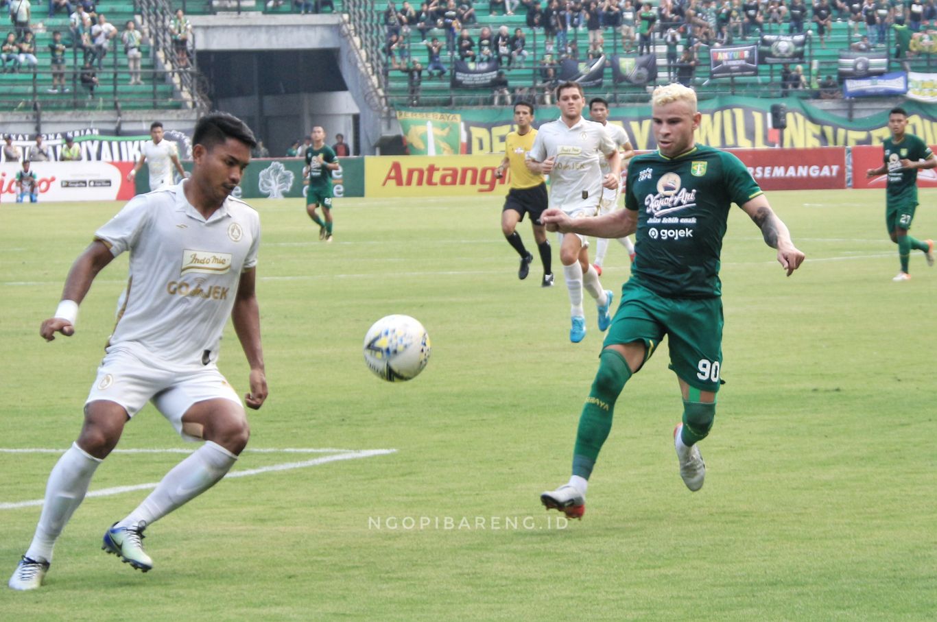
M 183 182 L 140 195 L 95 233 L 130 252 L 126 301 L 109 350 L 179 367 L 215 363 L 241 273 L 257 265 L 260 216 L 229 197 L 206 221 Z

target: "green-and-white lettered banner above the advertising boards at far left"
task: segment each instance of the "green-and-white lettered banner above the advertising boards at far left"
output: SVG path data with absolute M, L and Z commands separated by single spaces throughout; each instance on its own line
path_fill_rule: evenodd
M 35 134 L 13 134 L 13 144 L 20 147 L 23 156 L 29 157 L 29 149 L 36 144 Z M 55 159 L 60 159 L 65 148 L 66 136 L 71 136 L 82 150 L 85 162 L 135 162 L 140 159 L 140 150 L 150 136 L 112 136 L 101 133 L 98 129 L 82 128 L 68 132 L 42 134 L 43 144 L 52 148 Z M 163 140 L 174 142 L 176 153 L 181 159 L 192 156 L 192 143 L 188 136 L 180 131 L 166 129 Z M 4 161 L 0 152 L 0 162 Z

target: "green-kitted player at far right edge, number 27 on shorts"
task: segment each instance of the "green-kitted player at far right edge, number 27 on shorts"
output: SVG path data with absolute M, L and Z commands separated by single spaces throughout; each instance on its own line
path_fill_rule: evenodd
M 901 262 L 901 271 L 893 281 L 911 279 L 911 274 L 908 274 L 908 257 L 912 249 L 922 251 L 929 266 L 934 264 L 933 241 L 915 240 L 908 235 L 908 230 L 911 229 L 917 208 L 917 171 L 937 167 L 937 158 L 926 142 L 914 134 L 905 133 L 907 126 L 908 113 L 903 108 L 893 108 L 888 113 L 891 138 L 885 140 L 885 164 L 866 171 L 866 177 L 888 173 L 885 227 L 891 241 L 898 244 L 898 258 Z

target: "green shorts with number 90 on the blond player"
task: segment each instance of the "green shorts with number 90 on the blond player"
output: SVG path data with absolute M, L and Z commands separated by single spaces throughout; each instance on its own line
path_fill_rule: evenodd
M 669 367 L 691 387 L 718 392 L 722 365 L 721 298 L 665 298 L 633 280 L 621 288 L 621 303 L 604 346 L 642 341 L 649 359 L 667 335 Z

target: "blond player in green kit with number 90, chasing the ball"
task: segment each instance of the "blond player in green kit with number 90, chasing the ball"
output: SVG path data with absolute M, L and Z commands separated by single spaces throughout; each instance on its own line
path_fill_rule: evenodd
M 548 510 L 571 518 L 586 511 L 587 480 L 612 428 L 618 394 L 664 335 L 683 396 L 683 422 L 674 430 L 680 477 L 692 491 L 703 486 L 706 465 L 696 443 L 709 433 L 716 414 L 722 363 L 719 261 L 731 204 L 750 215 L 766 244 L 778 249 L 788 276 L 804 260 L 745 165 L 736 156 L 695 144 L 700 113 L 692 89 L 657 87 L 651 117 L 658 149 L 629 164 L 624 210 L 573 220 L 551 209 L 541 218 L 547 230 L 602 238 L 637 232 L 632 277 L 622 287 L 579 419 L 573 477 L 541 495 Z

